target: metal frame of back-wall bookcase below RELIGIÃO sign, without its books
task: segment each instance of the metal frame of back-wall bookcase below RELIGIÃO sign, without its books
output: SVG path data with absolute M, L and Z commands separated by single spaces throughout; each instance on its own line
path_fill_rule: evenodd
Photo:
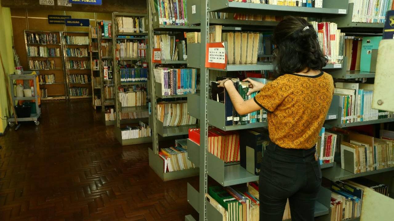
M 90 44 L 67 44 L 65 41 L 65 36 L 84 36 L 88 37 L 89 39 L 89 32 L 84 32 L 84 31 L 62 31 L 61 32 L 61 42 L 63 46 L 63 59 L 64 59 L 64 67 L 65 67 L 65 73 L 66 73 L 66 84 L 67 84 L 67 94 L 69 99 L 78 99 L 78 98 L 92 98 L 93 90 L 89 87 L 83 87 L 86 85 L 85 83 L 72 83 L 70 81 L 70 75 L 71 74 L 82 74 L 82 75 L 91 75 L 91 68 L 68 68 L 67 66 L 67 61 L 69 60 L 78 60 L 78 61 L 86 61 L 86 63 L 91 65 L 91 53 L 89 50 L 89 45 Z M 90 41 L 90 40 L 89 40 Z M 89 53 L 89 56 L 83 56 L 83 57 L 75 57 L 75 56 L 67 56 L 67 48 L 86 48 L 87 53 Z M 90 62 L 90 63 L 89 63 Z M 78 70 L 78 71 L 77 71 Z M 87 72 L 87 71 L 90 71 Z M 92 80 L 92 79 L 91 79 Z M 87 83 L 91 84 L 91 82 Z M 77 96 L 72 96 L 71 95 L 71 87 L 77 85 L 78 87 L 83 87 L 87 88 L 88 94 L 87 95 L 77 95 Z

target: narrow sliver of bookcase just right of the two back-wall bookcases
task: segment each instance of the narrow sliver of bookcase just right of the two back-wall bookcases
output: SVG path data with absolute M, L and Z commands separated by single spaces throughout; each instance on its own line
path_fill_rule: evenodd
M 97 28 L 90 27 L 89 31 L 89 51 L 91 64 L 91 85 L 92 85 L 92 106 L 94 109 L 101 107 L 101 77 L 99 68 L 99 39 Z

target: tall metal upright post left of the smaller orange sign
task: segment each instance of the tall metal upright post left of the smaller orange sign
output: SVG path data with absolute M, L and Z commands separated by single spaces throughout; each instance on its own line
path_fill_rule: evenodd
M 156 93 L 155 93 L 155 87 L 154 84 L 156 80 L 154 79 L 154 64 L 152 63 L 152 52 L 153 52 L 153 38 L 154 38 L 154 33 L 153 33 L 153 26 L 152 26 L 152 5 L 149 4 L 150 0 L 147 0 L 147 9 L 148 9 L 148 42 L 147 42 L 147 47 L 149 47 L 148 53 L 147 53 L 147 61 L 149 64 L 149 80 L 150 80 L 150 89 L 151 89 L 151 120 L 149 122 L 152 122 L 152 125 L 149 125 L 152 129 L 152 148 L 153 148 L 153 153 L 154 154 L 159 154 L 159 139 L 158 139 L 158 134 L 157 134 L 157 124 L 156 124 L 156 105 L 157 105 L 157 98 L 156 98 Z

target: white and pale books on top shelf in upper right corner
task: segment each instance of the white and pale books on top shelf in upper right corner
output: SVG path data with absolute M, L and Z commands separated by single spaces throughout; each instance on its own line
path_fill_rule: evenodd
M 393 0 L 354 0 L 352 22 L 384 23 Z

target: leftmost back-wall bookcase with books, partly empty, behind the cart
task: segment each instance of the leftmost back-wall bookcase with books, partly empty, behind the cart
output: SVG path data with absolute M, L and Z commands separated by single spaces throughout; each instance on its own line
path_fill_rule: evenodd
M 40 72 L 41 99 L 66 99 L 60 32 L 24 30 L 24 37 L 29 70 Z

